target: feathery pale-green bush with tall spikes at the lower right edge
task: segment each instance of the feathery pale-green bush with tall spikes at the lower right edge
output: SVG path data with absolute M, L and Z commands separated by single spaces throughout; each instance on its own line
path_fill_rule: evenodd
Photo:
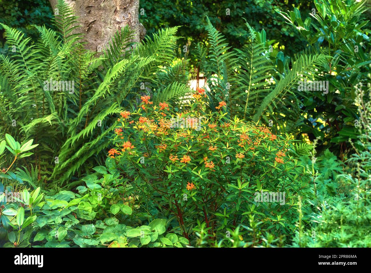
M 356 86 L 360 113 L 357 146 L 362 150 L 349 139 L 356 153 L 347 163 L 353 168 L 351 173 L 340 174 L 334 181 L 345 182 L 347 191 L 322 200 L 321 211 L 313 216 L 312 228 L 299 228 L 294 247 L 371 247 L 371 103 L 364 101 L 361 89 L 361 85 Z

